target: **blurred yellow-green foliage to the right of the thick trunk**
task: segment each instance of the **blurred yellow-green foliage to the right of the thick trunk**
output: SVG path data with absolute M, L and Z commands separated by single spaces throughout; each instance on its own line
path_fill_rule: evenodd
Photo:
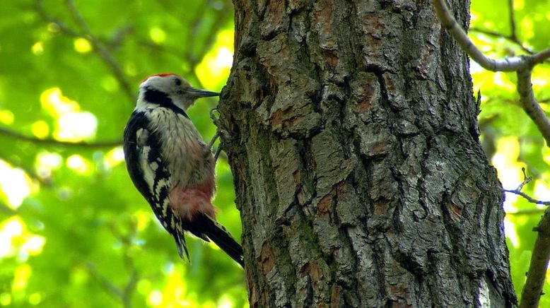
M 471 11 L 469 37 L 489 57 L 511 57 L 550 47 L 548 0 L 474 0 Z M 522 191 L 535 199 L 550 201 L 550 148 L 520 106 L 515 73 L 492 73 L 470 63 L 474 93 L 481 90 L 482 97 L 481 141 L 503 187 L 516 189 L 525 179 L 525 167 L 533 180 Z M 535 97 L 546 112 L 550 111 L 549 69 L 548 62 L 537 66 L 532 79 Z M 520 297 L 537 235 L 532 229 L 539 223 L 544 206 L 507 193 L 504 209 L 512 278 Z M 546 295 L 542 296 L 540 307 L 550 307 L 550 276 L 546 277 Z

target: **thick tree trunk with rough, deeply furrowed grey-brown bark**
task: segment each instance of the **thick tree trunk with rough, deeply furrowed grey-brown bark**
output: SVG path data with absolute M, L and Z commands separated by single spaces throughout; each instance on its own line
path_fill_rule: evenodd
M 234 2 L 220 112 L 250 305 L 515 304 L 468 59 L 431 1 Z

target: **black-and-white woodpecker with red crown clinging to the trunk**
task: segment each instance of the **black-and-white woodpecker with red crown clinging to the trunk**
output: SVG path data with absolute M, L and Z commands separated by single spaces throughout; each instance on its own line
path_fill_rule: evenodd
M 209 242 L 244 266 L 242 247 L 221 224 L 211 203 L 216 191 L 211 143 L 206 144 L 187 108 L 219 93 L 193 88 L 174 73 L 159 73 L 139 85 L 136 108 L 124 129 L 124 158 L 132 182 L 156 218 L 189 259 L 184 231 Z

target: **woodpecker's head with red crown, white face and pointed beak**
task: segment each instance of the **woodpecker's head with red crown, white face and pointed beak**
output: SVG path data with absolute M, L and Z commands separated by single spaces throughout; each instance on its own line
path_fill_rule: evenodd
M 141 81 L 136 109 L 153 104 L 163 107 L 175 105 L 186 111 L 197 98 L 218 95 L 217 92 L 193 88 L 175 73 L 159 73 Z

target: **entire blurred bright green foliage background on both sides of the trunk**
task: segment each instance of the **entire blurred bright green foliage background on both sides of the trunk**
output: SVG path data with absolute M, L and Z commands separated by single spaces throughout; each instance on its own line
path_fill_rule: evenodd
M 550 1 L 474 0 L 470 37 L 488 56 L 549 47 Z M 506 17 L 506 18 L 504 18 Z M 11 307 L 243 307 L 242 270 L 211 244 L 187 237 L 192 263 L 129 182 L 119 146 L 145 76 L 173 71 L 221 90 L 233 53 L 228 0 L 23 0 L 0 5 L 0 305 Z M 547 64 L 534 90 L 549 109 Z M 515 75 L 472 64 L 479 123 L 503 186 L 550 200 L 550 150 L 522 112 Z M 214 133 L 200 100 L 189 110 Z M 64 142 L 77 143 L 76 146 Z M 86 144 L 83 144 L 85 142 Z M 240 236 L 233 180 L 218 163 L 223 225 Z M 520 292 L 542 210 L 507 194 L 505 228 Z M 545 292 L 548 293 L 547 286 Z M 547 296 L 546 296 L 547 297 Z M 542 298 L 542 307 L 550 300 Z

